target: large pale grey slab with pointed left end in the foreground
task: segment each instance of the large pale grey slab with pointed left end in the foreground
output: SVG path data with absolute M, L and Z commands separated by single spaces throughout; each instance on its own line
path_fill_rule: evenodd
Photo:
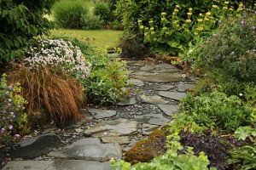
M 118 143 L 101 144 L 99 139 L 80 139 L 60 150 L 49 152 L 48 156 L 85 161 L 109 161 L 111 158 L 120 159 L 122 149 Z

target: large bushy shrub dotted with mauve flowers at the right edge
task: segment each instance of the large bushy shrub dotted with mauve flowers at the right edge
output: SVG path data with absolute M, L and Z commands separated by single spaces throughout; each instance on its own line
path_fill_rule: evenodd
M 255 26 L 256 16 L 250 12 L 240 18 L 229 18 L 212 37 L 191 48 L 187 59 L 194 60 L 195 67 L 207 73 L 253 82 L 256 80 Z

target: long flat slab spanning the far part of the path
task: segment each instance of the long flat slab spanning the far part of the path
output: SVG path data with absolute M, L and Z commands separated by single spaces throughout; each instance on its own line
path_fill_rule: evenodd
M 131 75 L 131 77 L 140 79 L 144 82 L 189 82 L 189 77 L 182 77 L 180 73 L 166 74 L 166 73 L 148 73 L 138 72 Z

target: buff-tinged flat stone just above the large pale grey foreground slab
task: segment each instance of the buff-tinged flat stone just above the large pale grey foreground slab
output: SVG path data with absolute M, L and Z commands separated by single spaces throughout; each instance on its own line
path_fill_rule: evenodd
M 117 119 L 113 121 L 99 122 L 94 127 L 90 127 L 84 131 L 85 134 L 93 137 L 106 136 L 127 136 L 131 133 L 137 133 L 136 121 L 127 119 Z

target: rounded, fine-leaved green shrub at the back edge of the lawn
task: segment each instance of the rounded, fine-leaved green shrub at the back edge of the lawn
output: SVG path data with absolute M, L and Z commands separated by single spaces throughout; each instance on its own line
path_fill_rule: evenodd
M 52 8 L 57 25 L 63 28 L 83 28 L 89 8 L 83 0 L 61 0 Z

